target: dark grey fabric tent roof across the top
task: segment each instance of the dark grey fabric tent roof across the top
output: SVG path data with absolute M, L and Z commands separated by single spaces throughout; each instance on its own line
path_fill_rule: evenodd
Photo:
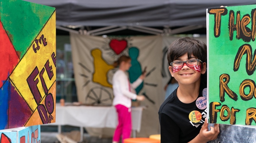
M 206 9 L 256 0 L 25 0 L 56 7 L 56 24 L 83 26 L 206 25 Z

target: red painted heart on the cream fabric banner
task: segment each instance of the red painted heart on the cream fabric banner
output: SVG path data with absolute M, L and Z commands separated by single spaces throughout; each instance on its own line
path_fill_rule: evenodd
M 126 40 L 117 40 L 117 39 L 112 39 L 109 43 L 110 48 L 116 53 L 120 54 L 127 46 L 127 41 Z

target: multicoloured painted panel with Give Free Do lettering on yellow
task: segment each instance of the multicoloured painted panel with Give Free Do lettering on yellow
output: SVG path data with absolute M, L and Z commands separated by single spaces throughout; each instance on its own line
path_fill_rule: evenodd
M 0 3 L 0 129 L 55 122 L 56 11 Z

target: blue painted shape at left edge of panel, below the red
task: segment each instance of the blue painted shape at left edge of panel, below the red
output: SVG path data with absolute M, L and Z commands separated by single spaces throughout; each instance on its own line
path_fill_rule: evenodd
M 0 89 L 0 130 L 5 129 L 8 124 L 9 87 L 8 79 Z

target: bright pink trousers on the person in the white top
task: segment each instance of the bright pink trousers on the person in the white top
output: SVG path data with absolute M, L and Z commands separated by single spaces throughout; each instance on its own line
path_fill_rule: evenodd
M 118 126 L 115 129 L 113 141 L 119 142 L 120 137 L 122 135 L 122 143 L 126 138 L 130 138 L 131 130 L 132 130 L 132 121 L 131 121 L 131 109 L 123 106 L 116 105 L 115 106 L 118 113 Z

